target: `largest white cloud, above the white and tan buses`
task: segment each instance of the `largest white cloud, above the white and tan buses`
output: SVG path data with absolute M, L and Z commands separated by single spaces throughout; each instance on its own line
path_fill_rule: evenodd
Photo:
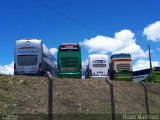
M 89 53 L 130 53 L 133 59 L 147 57 L 147 52 L 144 52 L 143 49 L 136 44 L 134 33 L 126 29 L 115 33 L 113 38 L 96 36 L 91 39 L 85 39 L 80 44 L 87 47 Z

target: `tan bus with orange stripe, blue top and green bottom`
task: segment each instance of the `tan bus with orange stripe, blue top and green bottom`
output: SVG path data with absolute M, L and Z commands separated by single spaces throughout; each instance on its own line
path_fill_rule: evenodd
M 132 59 L 130 54 L 113 54 L 110 57 L 110 79 L 111 80 L 132 80 Z

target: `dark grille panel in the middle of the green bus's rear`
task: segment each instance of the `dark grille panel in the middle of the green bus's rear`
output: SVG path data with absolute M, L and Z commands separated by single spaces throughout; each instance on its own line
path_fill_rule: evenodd
M 63 67 L 76 67 L 78 65 L 77 57 L 62 57 L 61 65 Z

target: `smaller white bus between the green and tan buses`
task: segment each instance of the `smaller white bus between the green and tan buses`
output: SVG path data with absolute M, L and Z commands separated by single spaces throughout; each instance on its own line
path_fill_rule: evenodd
M 84 72 L 85 78 L 109 79 L 109 57 L 103 54 L 91 54 L 88 57 L 88 65 Z

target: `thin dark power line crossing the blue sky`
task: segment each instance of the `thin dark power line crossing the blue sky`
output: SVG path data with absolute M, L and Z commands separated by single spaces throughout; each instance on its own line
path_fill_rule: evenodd
M 93 27 L 91 27 L 91 26 L 89 26 L 89 25 L 87 25 L 87 24 L 84 24 L 84 23 L 82 23 L 82 22 L 74 19 L 73 17 L 71 17 L 71 16 L 69 16 L 69 15 L 66 15 L 65 13 L 63 13 L 63 12 L 61 12 L 61 11 L 59 11 L 59 10 L 51 7 L 51 6 L 49 6 L 49 5 L 46 4 L 46 3 L 43 3 L 43 2 L 41 2 L 41 1 L 39 1 L 39 0 L 34 0 L 34 1 L 35 1 L 36 3 L 38 3 L 38 4 L 40 4 L 41 6 L 47 8 L 47 9 L 49 9 L 49 10 L 51 10 L 51 11 L 53 11 L 53 12 L 55 12 L 55 13 L 61 15 L 61 16 L 63 16 L 64 18 L 66 18 L 66 19 L 68 19 L 68 20 L 70 20 L 70 21 L 72 21 L 72 22 L 74 22 L 74 23 L 76 23 L 76 24 L 79 24 L 80 26 L 83 26 L 83 27 L 85 27 L 85 28 L 87 28 L 87 29 L 90 29 L 91 31 L 97 32 L 97 33 L 99 33 L 99 34 L 105 34 L 104 32 L 101 32 L 101 31 L 99 31 L 99 30 L 97 30 L 97 29 L 95 29 L 95 28 L 93 28 Z

